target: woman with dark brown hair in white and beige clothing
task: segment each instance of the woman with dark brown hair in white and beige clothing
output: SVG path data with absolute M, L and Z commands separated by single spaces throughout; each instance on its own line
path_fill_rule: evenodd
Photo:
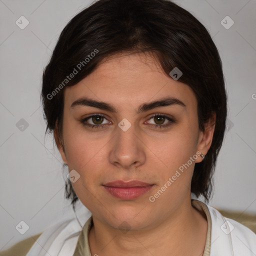
M 99 0 L 60 34 L 42 81 L 47 129 L 91 216 L 30 255 L 255 255 L 256 235 L 207 201 L 226 120 L 205 27 L 167 0 Z

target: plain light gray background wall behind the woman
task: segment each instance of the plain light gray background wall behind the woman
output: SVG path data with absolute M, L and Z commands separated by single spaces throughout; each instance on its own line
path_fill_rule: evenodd
M 62 174 L 52 137 L 44 137 L 39 94 L 42 70 L 59 33 L 90 2 L 0 0 L 0 249 L 74 217 L 64 199 L 67 170 Z M 223 62 L 229 131 L 210 204 L 256 213 L 256 0 L 175 2 L 206 26 Z M 24 29 L 15 24 L 21 15 L 29 21 Z M 234 21 L 229 29 L 220 23 L 226 15 Z M 28 123 L 23 131 L 16 126 L 21 118 Z M 78 212 L 84 210 L 80 204 Z M 29 226 L 24 234 L 15 229 L 21 220 Z

